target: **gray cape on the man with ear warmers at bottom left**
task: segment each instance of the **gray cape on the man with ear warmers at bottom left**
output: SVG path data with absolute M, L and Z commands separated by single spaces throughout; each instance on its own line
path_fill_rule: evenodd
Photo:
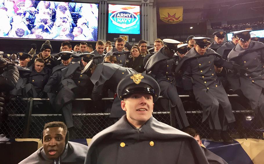
M 88 146 L 68 141 L 66 148 L 61 156 L 61 163 L 84 163 L 85 156 L 88 151 Z M 28 158 L 21 161 L 19 164 L 53 164 L 54 160 L 47 158 L 43 147 L 31 154 Z

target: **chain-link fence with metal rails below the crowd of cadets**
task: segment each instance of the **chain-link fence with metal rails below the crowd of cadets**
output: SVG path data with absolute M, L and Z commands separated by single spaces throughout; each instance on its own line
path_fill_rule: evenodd
M 180 96 L 182 99 L 188 95 Z M 18 99 L 16 102 L 8 103 L 6 107 L 7 117 L 4 119 L 1 131 L 8 138 L 40 138 L 44 124 L 52 121 L 63 121 L 61 114 L 53 113 L 48 101 L 41 101 L 36 105 L 35 100 Z M 92 101 L 91 101 L 92 103 Z M 178 128 L 175 122 L 174 112 L 169 109 L 162 109 L 160 106 L 154 109 L 153 117 L 158 121 Z M 196 107 L 199 108 L 199 107 Z M 198 130 L 202 138 L 209 139 L 209 125 L 202 122 L 202 111 L 194 109 L 186 111 L 190 126 Z M 30 115 L 32 111 L 32 114 Z M 49 114 L 43 114 L 49 113 Z M 50 114 L 53 113 L 53 114 Z M 251 110 L 233 111 L 236 122 L 229 125 L 229 131 L 233 138 L 263 138 L 264 130 Z M 110 113 L 75 113 L 73 122 L 75 128 L 72 130 L 72 138 L 92 138 L 103 129 L 111 126 L 116 119 L 109 118 Z

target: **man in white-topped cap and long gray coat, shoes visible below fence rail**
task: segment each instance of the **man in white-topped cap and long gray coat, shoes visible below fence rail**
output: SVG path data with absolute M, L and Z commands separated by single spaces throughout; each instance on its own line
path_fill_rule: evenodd
M 228 69 L 238 69 L 238 66 L 233 66 L 215 51 L 207 49 L 207 41 L 210 38 L 193 39 L 194 48 L 182 58 L 175 72 L 182 70 L 184 89 L 193 90 L 196 101 L 203 109 L 202 122 L 208 120 L 212 129 L 212 139 L 215 142 L 233 142 L 227 133 L 227 123 L 234 122 L 235 117 L 225 89 L 216 76 L 214 65 Z

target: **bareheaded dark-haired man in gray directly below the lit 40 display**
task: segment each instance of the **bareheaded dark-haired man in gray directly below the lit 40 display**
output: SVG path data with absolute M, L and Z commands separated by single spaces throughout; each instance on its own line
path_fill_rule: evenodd
M 117 38 L 115 41 L 115 47 L 106 53 L 105 57 L 114 55 L 117 59 L 118 64 L 122 66 L 126 65 L 126 61 L 130 55 L 130 51 L 124 51 L 125 41 L 123 38 Z

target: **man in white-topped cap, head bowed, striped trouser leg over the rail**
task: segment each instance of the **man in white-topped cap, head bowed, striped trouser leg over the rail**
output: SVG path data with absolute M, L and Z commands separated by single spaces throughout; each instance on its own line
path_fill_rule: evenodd
M 173 75 L 178 59 L 175 53 L 180 42 L 172 39 L 163 39 L 163 42 L 164 47 L 149 58 L 145 69 L 160 85 L 161 96 L 171 100 L 171 107 L 174 108 L 178 125 L 182 129 L 189 126 L 189 122 Z

